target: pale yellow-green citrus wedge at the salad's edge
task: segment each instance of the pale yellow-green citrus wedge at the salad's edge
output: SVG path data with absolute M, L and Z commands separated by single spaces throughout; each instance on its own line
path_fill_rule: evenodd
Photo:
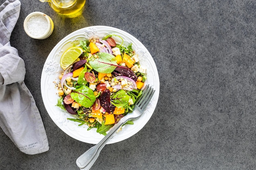
M 61 68 L 65 70 L 83 53 L 83 49 L 79 46 L 73 46 L 67 49 L 61 56 Z

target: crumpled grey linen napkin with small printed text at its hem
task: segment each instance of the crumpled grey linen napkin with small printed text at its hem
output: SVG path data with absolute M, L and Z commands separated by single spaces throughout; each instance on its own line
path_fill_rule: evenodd
M 19 15 L 19 0 L 0 6 L 0 126 L 20 151 L 34 155 L 49 150 L 49 144 L 34 98 L 24 84 L 24 61 L 9 42 Z

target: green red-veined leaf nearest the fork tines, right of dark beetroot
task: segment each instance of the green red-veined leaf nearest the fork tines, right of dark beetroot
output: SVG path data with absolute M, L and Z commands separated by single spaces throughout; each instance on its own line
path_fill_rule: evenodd
M 121 108 L 128 104 L 130 96 L 124 90 L 119 90 L 110 96 L 110 100 L 114 106 Z

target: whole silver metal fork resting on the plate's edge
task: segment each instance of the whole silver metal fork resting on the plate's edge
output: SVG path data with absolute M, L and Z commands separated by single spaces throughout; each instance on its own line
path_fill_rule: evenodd
M 106 145 L 108 140 L 113 136 L 113 134 L 115 134 L 115 132 L 120 128 L 120 126 L 125 124 L 130 119 L 140 117 L 144 113 L 154 93 L 155 90 L 149 85 L 146 85 L 142 95 L 135 102 L 135 108 L 132 114 L 128 114 L 124 116 L 122 119 L 120 119 L 120 121 L 115 126 L 113 126 L 113 128 L 108 132 L 108 134 L 103 139 L 101 139 L 101 141 L 99 141 L 97 145 L 91 147 L 86 152 L 84 152 L 83 155 L 78 157 L 76 159 L 76 165 L 82 170 L 89 170 L 99 157 L 101 149 Z

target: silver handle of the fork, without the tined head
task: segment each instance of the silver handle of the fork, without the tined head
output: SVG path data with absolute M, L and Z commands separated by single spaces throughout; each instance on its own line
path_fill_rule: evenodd
M 129 119 L 132 119 L 132 117 L 129 117 L 128 115 L 120 119 L 120 121 L 112 127 L 108 134 L 105 137 L 103 137 L 103 139 L 101 139 L 101 141 L 99 141 L 97 145 L 91 147 L 76 159 L 76 165 L 83 170 L 89 170 L 92 167 L 93 163 L 99 157 L 99 153 L 101 152 L 102 148 L 106 145 L 108 140 Z

